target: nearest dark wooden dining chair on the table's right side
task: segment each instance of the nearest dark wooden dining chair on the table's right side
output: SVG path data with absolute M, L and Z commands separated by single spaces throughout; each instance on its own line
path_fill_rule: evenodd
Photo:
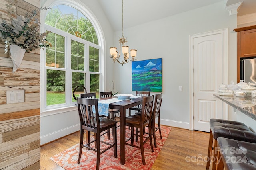
M 142 163 L 145 165 L 145 156 L 144 156 L 144 144 L 149 140 L 150 147 L 152 152 L 153 144 L 152 144 L 152 107 L 153 107 L 154 96 L 143 97 L 142 99 L 142 110 L 141 115 L 129 115 L 126 117 L 126 126 L 131 127 L 131 136 L 125 141 L 126 145 L 130 145 L 132 147 L 136 147 L 140 149 Z M 148 134 L 144 135 L 143 130 L 148 125 Z M 136 133 L 134 134 L 134 128 L 136 128 Z M 139 131 L 139 134 L 138 134 Z M 140 137 L 140 146 L 134 145 L 134 136 Z M 144 140 L 145 139 L 145 140 Z M 128 141 L 131 140 L 131 143 Z

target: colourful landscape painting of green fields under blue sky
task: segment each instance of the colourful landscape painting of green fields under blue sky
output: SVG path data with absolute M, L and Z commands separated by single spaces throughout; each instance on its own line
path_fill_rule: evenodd
M 162 58 L 132 61 L 132 91 L 162 92 Z

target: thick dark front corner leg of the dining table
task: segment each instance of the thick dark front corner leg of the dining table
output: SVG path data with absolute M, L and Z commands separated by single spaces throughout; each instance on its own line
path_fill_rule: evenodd
M 125 109 L 120 109 L 120 163 L 125 163 Z

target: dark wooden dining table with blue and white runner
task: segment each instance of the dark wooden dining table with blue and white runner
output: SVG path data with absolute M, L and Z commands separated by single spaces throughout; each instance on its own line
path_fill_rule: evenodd
M 125 117 L 126 109 L 142 104 L 142 97 L 129 98 L 120 102 L 109 104 L 110 109 L 118 109 L 120 111 L 120 163 L 125 164 Z

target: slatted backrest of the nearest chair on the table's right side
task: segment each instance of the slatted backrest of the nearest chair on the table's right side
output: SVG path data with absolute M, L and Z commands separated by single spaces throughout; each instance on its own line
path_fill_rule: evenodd
M 154 96 L 143 97 L 142 99 L 142 110 L 140 119 L 143 123 L 148 123 L 151 120 L 152 108 L 153 108 Z

